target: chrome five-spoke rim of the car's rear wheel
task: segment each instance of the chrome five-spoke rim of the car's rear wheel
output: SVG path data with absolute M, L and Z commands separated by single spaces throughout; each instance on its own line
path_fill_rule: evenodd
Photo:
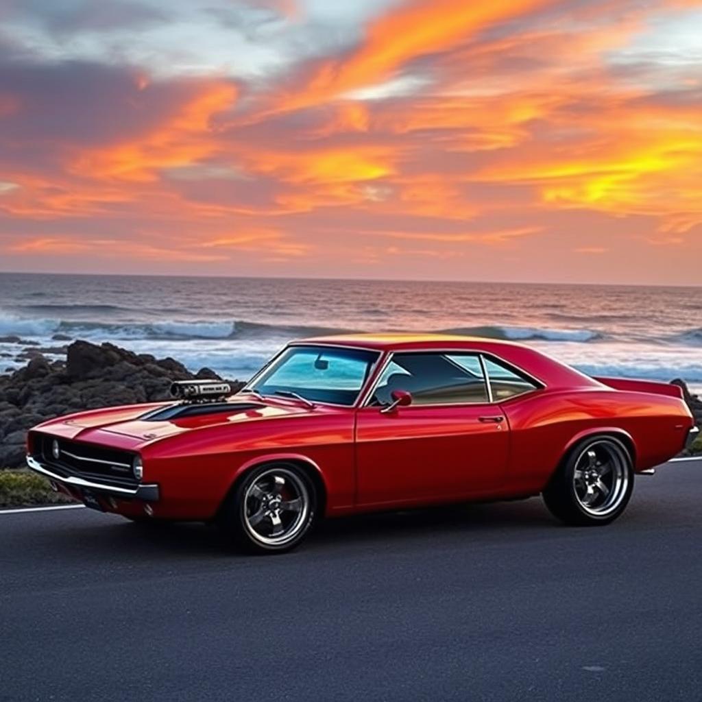
M 629 459 L 622 446 L 597 441 L 583 449 L 573 473 L 573 489 L 581 510 L 607 517 L 621 505 L 629 486 Z

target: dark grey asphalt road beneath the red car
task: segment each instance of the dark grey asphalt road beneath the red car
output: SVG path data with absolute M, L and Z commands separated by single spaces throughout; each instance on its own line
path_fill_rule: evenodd
M 702 461 L 610 527 L 540 500 L 329 522 L 244 557 L 196 524 L 0 515 L 0 701 L 694 702 Z

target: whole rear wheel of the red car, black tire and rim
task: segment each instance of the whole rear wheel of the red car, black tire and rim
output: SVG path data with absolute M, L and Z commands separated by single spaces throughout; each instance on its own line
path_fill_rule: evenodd
M 588 437 L 564 458 L 543 491 L 543 501 L 566 524 L 603 526 L 626 509 L 633 488 L 627 447 L 611 436 Z

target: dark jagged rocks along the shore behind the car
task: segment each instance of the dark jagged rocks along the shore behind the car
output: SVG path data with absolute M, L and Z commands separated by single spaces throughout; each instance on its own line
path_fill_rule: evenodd
M 55 338 L 67 341 L 66 338 Z M 208 368 L 190 373 L 172 358 L 135 354 L 114 344 L 74 341 L 65 347 L 27 348 L 28 363 L 0 376 L 0 468 L 25 463 L 27 429 L 44 420 L 96 407 L 168 399 L 173 380 L 222 380 Z M 65 352 L 65 361 L 48 360 L 44 353 Z M 235 388 L 244 383 L 230 381 Z M 680 385 L 696 423 L 702 425 L 702 400 Z M 699 453 L 702 447 L 696 447 Z

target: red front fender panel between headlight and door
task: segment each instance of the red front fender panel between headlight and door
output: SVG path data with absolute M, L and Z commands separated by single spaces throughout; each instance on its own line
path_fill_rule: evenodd
M 218 425 L 148 444 L 142 449 L 146 482 L 161 486 L 169 518 L 213 517 L 230 487 L 253 465 L 304 459 L 318 468 L 326 511 L 350 508 L 355 497 L 352 411 Z

